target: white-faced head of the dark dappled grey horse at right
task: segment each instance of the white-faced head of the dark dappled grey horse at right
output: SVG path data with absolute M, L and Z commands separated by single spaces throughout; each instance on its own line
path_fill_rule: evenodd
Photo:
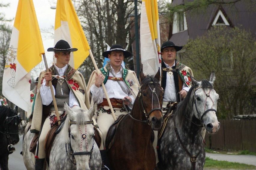
M 208 133 L 216 133 L 220 127 L 220 122 L 216 116 L 219 95 L 213 89 L 215 74 L 212 72 L 210 81 L 197 81 L 194 77 L 191 78 L 194 86 L 191 89 L 194 115 L 205 125 Z

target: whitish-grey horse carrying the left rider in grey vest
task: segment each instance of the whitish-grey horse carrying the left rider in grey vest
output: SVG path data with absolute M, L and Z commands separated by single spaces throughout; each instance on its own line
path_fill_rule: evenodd
M 61 170 L 101 169 L 99 148 L 93 139 L 92 118 L 96 115 L 96 105 L 89 111 L 85 111 L 80 107 L 71 109 L 65 103 L 65 110 L 67 117 L 62 124 L 62 130 L 54 139 L 50 151 L 50 163 L 47 168 Z M 31 156 L 28 148 L 33 136 L 28 132 L 23 141 L 23 160 L 27 169 L 35 169 L 35 156 Z M 26 156 L 27 154 L 29 156 Z

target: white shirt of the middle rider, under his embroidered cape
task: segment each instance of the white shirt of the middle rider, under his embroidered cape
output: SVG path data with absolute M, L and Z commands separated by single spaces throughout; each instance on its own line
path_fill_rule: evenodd
M 114 73 L 114 69 L 112 68 L 112 66 L 111 66 L 111 69 L 112 69 L 112 72 Z M 109 72 L 109 76 L 122 77 L 122 67 L 120 68 L 120 71 L 118 73 L 116 73 L 116 76 L 114 76 L 110 72 Z M 129 88 L 127 87 L 125 82 L 123 82 L 123 81 L 119 81 L 119 82 L 125 89 L 126 93 L 123 92 L 122 88 L 120 87 L 120 85 L 118 84 L 117 81 L 108 80 L 105 84 L 105 88 L 108 93 L 108 97 L 110 99 L 111 98 L 123 99 L 124 97 L 129 96 L 132 99 L 131 103 L 133 104 L 135 99 L 134 99 L 133 95 L 131 94 Z M 90 91 L 92 93 L 93 102 L 96 102 L 96 104 L 102 103 L 103 98 L 106 98 L 106 95 L 103 92 L 103 89 L 101 86 L 98 88 L 96 85 L 92 85 L 90 88 Z M 129 106 L 129 108 L 132 108 L 132 106 L 130 106 L 130 105 L 128 105 L 128 106 Z

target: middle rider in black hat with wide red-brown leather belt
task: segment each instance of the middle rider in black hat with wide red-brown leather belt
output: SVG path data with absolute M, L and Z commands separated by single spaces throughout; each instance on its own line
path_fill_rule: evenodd
M 118 118 L 119 115 L 127 114 L 123 106 L 123 100 L 124 104 L 132 109 L 132 106 L 126 100 L 129 100 L 131 104 L 134 103 L 139 92 L 139 81 L 134 71 L 126 70 L 121 66 L 123 59 L 131 55 L 121 45 L 111 46 L 110 50 L 103 52 L 102 55 L 109 58 L 110 61 L 105 67 L 99 69 L 99 74 L 96 73 L 96 70 L 93 71 L 87 90 L 88 94 L 91 94 L 91 102 L 98 104 L 97 124 L 102 132 L 102 143 L 99 149 L 102 162 L 106 165 L 105 139 L 108 128 L 114 123 L 114 118 L 101 85 L 104 83 L 115 116 Z

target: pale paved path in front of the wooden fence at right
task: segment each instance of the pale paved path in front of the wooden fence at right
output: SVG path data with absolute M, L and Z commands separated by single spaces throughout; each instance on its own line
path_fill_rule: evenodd
M 211 154 L 206 153 L 206 157 L 213 160 L 225 160 L 228 162 L 245 163 L 256 166 L 256 156 L 254 155 L 232 155 L 232 154 Z

